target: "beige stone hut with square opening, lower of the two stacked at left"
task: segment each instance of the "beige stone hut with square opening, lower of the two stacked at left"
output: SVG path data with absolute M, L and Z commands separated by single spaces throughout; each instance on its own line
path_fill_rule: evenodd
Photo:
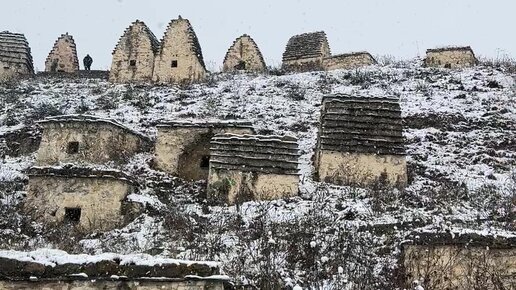
M 84 167 L 33 167 L 28 175 L 26 213 L 38 221 L 69 223 L 86 232 L 120 226 L 124 199 L 135 185 L 120 171 Z

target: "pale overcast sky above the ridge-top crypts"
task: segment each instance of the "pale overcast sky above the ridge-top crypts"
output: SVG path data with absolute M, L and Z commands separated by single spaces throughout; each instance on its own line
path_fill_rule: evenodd
M 278 65 L 290 36 L 324 30 L 332 53 L 367 50 L 413 58 L 425 49 L 471 45 L 477 55 L 516 56 L 514 0 L 1 0 L 0 30 L 25 33 L 34 65 L 44 68 L 61 33 L 69 32 L 92 69 L 109 69 L 124 29 L 145 21 L 160 39 L 168 22 L 188 18 L 208 69 L 218 70 L 233 40 L 247 33 L 268 65 Z

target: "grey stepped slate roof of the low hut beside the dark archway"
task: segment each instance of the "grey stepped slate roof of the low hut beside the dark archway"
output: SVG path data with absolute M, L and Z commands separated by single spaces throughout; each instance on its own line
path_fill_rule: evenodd
M 298 174 L 297 139 L 286 136 L 219 134 L 211 141 L 211 169 Z

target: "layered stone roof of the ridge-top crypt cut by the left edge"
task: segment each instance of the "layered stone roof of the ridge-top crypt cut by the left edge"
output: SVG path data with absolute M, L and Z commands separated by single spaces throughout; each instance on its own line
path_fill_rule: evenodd
M 25 35 L 0 32 L 0 61 L 25 65 L 29 72 L 34 73 L 32 55 Z

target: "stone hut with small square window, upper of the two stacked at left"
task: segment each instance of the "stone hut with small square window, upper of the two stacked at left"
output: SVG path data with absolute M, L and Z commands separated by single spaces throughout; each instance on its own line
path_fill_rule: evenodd
M 150 146 L 150 139 L 110 119 L 64 115 L 38 122 L 43 127 L 38 166 L 63 163 L 123 163 Z

